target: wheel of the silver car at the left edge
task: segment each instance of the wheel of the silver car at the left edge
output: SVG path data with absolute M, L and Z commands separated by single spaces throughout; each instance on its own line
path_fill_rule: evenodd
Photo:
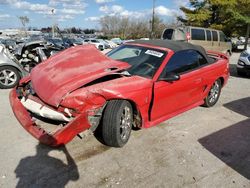
M 18 70 L 12 66 L 0 67 L 0 88 L 9 89 L 15 87 L 20 81 L 21 76 Z

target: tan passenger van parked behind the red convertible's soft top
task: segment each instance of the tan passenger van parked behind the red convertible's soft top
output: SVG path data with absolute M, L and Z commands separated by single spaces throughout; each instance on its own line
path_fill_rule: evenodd
M 200 45 L 205 50 L 232 54 L 232 43 L 220 30 L 193 26 L 166 28 L 162 33 L 162 39 L 185 41 Z

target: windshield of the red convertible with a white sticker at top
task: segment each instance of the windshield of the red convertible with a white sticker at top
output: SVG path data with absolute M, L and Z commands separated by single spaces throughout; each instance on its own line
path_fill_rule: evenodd
M 152 78 L 166 57 L 166 52 L 153 48 L 123 45 L 109 52 L 107 56 L 129 63 L 131 67 L 127 71 L 131 75 Z

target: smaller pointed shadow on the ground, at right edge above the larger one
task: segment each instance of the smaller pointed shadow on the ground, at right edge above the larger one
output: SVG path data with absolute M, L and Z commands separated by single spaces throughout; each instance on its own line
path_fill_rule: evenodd
M 223 105 L 224 107 L 250 118 L 250 97 L 235 100 Z

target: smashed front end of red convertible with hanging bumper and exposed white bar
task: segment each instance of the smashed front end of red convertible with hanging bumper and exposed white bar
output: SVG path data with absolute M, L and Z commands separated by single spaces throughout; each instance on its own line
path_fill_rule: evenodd
M 68 143 L 85 130 L 94 131 L 106 101 L 102 99 L 93 105 L 69 94 L 59 106 L 51 106 L 39 98 L 28 81 L 10 92 L 10 103 L 24 129 L 41 143 L 58 146 Z

